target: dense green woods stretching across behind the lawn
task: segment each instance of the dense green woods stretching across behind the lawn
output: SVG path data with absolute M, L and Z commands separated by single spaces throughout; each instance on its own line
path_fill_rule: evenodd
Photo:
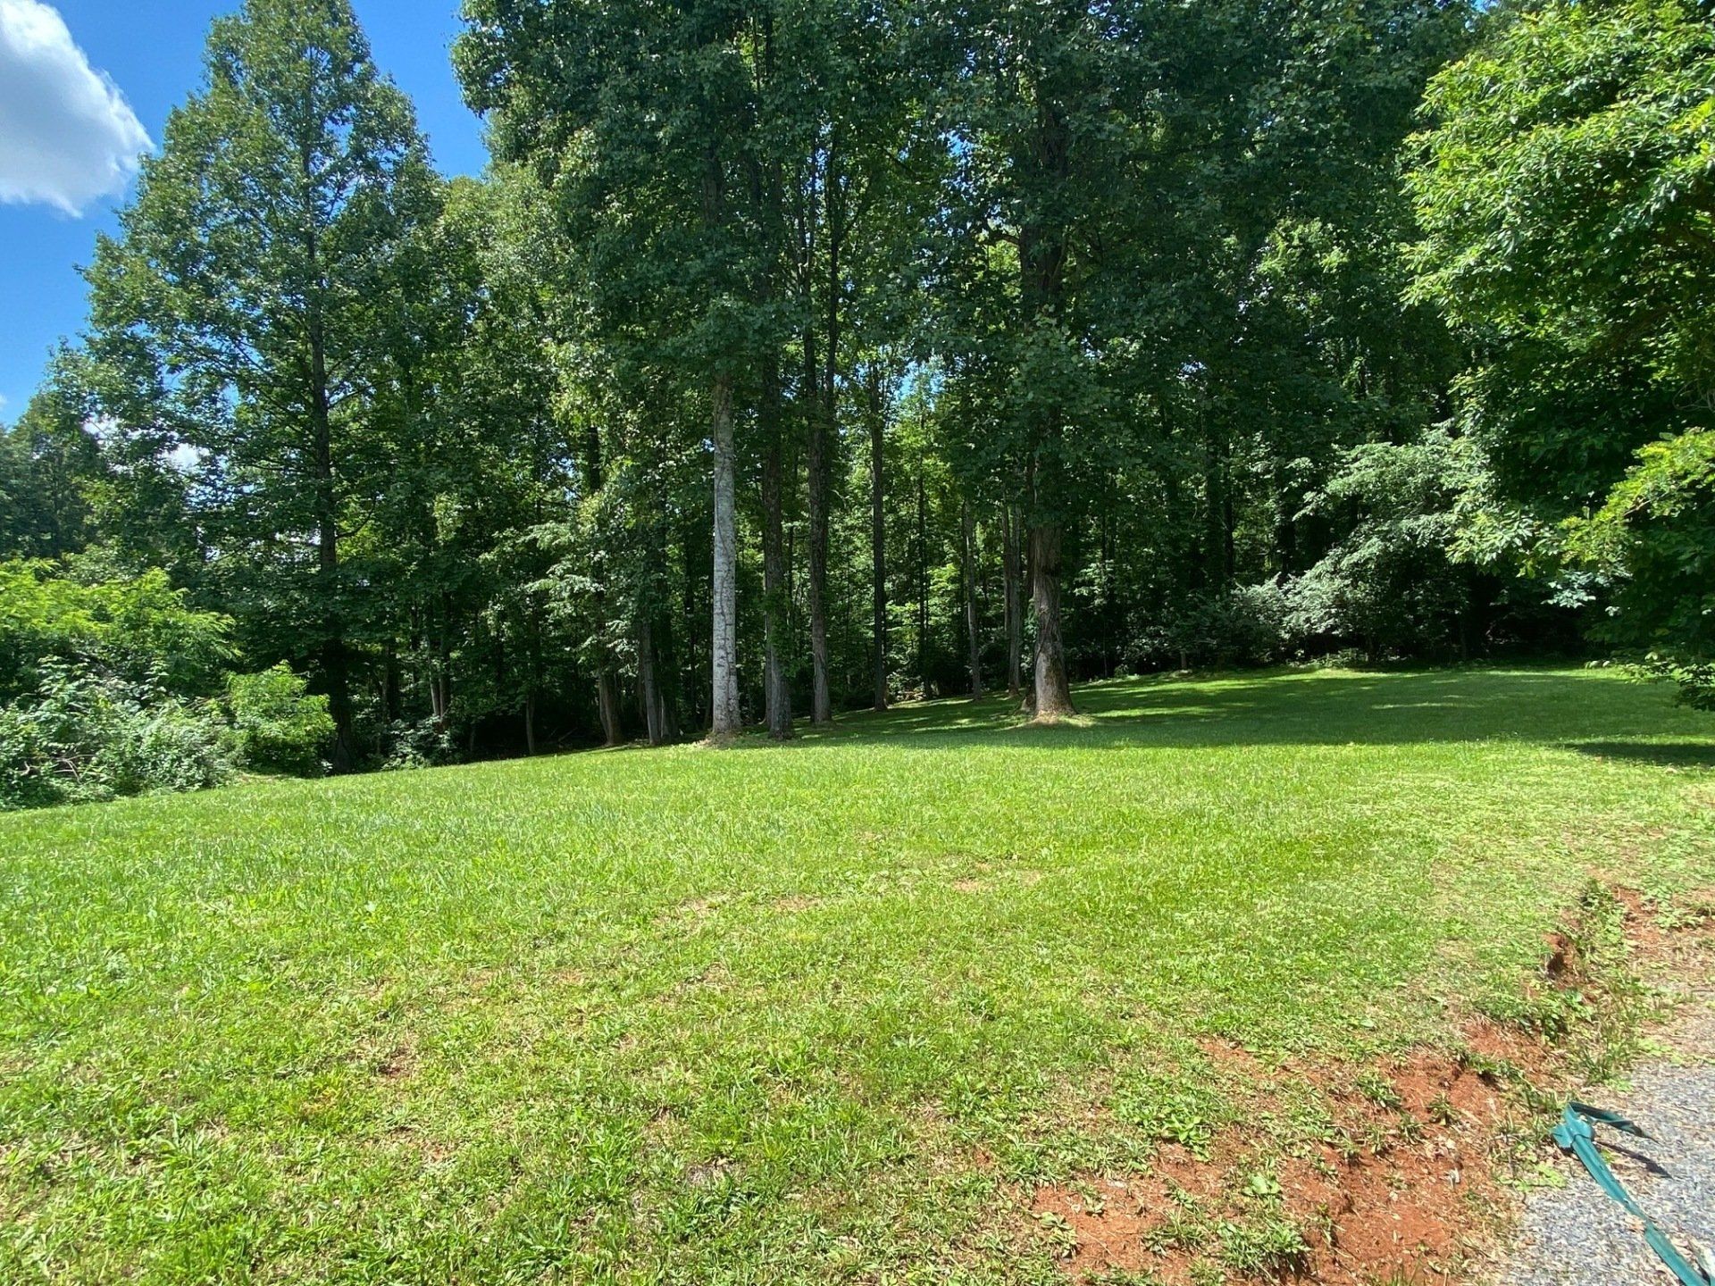
M 1708 5 L 465 15 L 480 180 L 345 0 L 214 26 L 0 436 L 7 802 L 120 681 L 213 730 L 115 790 L 1336 653 L 1715 693 Z

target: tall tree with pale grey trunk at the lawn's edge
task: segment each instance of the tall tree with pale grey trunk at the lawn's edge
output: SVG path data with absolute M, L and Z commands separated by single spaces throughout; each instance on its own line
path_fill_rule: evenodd
M 741 7 L 470 0 L 454 50 L 504 158 L 537 168 L 609 341 L 705 406 L 713 494 L 712 730 L 739 730 L 737 396 L 753 370 L 756 15 Z

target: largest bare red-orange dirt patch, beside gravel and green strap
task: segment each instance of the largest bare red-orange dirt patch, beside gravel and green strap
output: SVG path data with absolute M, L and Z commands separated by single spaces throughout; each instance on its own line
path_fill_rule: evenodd
M 1490 1032 L 1478 1036 L 1494 1044 Z M 1164 1286 L 1454 1279 L 1495 1204 L 1489 1154 L 1507 1097 L 1487 1056 L 1420 1051 L 1386 1070 L 1283 1065 L 1219 1043 L 1204 1053 L 1255 1087 L 1247 1121 L 1199 1159 L 1164 1145 L 1147 1175 L 1036 1192 L 1032 1214 L 1074 1281 L 1149 1274 Z M 1278 1091 L 1326 1104 L 1322 1139 L 1285 1142 Z

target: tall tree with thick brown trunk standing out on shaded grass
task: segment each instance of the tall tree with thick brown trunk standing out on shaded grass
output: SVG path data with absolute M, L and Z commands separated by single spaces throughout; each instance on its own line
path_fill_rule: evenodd
M 988 449 L 1022 478 L 1038 718 L 1072 713 L 1062 573 L 1079 449 L 1068 432 L 1096 396 L 1099 329 L 1086 286 L 1125 225 L 1120 189 L 1151 127 L 1147 10 L 1063 0 L 938 10 L 960 62 L 947 103 L 959 166 L 947 190 L 942 348 L 955 379 L 986 384 L 1000 430 Z

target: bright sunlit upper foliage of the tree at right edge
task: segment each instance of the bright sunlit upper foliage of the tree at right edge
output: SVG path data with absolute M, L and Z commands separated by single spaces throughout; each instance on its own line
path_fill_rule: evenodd
M 1696 0 L 1502 10 L 1425 99 L 1415 291 L 1461 326 L 1571 358 L 1624 346 L 1706 388 L 1712 58 Z

